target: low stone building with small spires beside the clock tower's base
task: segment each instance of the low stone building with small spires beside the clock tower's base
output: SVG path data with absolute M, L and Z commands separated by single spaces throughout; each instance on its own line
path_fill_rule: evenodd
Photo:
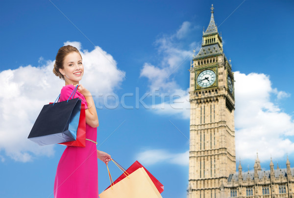
M 287 169 L 274 170 L 270 160 L 270 170 L 261 170 L 260 161 L 255 160 L 254 172 L 231 174 L 226 185 L 229 198 L 294 198 L 294 168 L 291 169 L 287 159 Z

